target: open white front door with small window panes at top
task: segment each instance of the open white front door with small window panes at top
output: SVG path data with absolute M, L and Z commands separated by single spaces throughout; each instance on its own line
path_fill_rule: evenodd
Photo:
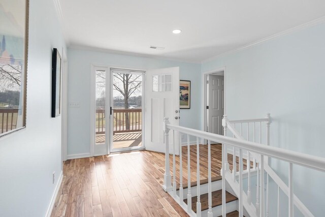
M 146 73 L 146 149 L 165 152 L 164 117 L 172 125 L 179 125 L 179 68 L 148 70 Z M 170 131 L 170 153 L 178 154 L 179 137 Z

